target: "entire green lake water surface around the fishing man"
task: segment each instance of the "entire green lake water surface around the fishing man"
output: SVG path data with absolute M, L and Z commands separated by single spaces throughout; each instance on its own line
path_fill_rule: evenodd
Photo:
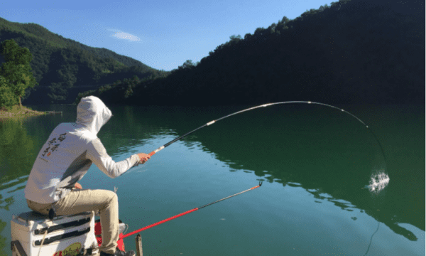
M 99 138 L 115 160 L 158 146 L 242 107 L 110 107 Z M 118 187 L 129 232 L 263 181 L 263 186 L 141 233 L 144 255 L 425 255 L 425 107 L 266 107 L 224 119 L 119 178 L 92 166 L 84 188 Z M 61 115 L 0 121 L 0 255 L 11 215 L 29 209 L 29 171 Z M 390 182 L 366 186 L 377 171 Z M 134 236 L 125 239 L 135 250 Z

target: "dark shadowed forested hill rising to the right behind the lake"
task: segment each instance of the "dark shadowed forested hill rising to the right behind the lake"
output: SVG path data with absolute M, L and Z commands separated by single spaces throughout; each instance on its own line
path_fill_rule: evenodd
M 424 56 L 424 1 L 340 1 L 231 36 L 166 78 L 85 95 L 134 105 L 425 104 Z

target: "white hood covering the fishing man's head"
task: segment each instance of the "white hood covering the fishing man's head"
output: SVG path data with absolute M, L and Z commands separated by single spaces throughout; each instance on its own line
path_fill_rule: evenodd
M 76 123 L 82 124 L 94 134 L 97 134 L 111 117 L 111 110 L 98 97 L 83 97 L 77 105 Z

